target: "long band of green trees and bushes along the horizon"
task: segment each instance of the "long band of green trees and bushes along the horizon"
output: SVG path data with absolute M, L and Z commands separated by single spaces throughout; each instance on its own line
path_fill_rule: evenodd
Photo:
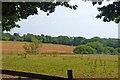
M 77 46 L 74 49 L 75 53 L 117 53 L 120 52 L 119 39 L 117 38 L 100 38 L 93 37 L 86 39 L 85 37 L 68 37 L 68 36 L 57 36 L 52 37 L 50 35 L 34 35 L 34 34 L 24 34 L 20 36 L 18 33 L 13 35 L 10 33 L 2 33 L 1 40 L 3 41 L 25 41 L 32 42 L 33 39 L 37 39 L 42 43 L 52 43 L 52 44 L 63 44 L 69 46 Z M 80 50 L 82 49 L 82 50 Z

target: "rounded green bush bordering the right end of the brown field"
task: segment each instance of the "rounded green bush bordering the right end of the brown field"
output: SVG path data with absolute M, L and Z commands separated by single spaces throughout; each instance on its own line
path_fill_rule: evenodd
M 77 46 L 73 50 L 73 52 L 76 54 L 92 54 L 92 53 L 96 53 L 96 50 L 87 45 L 80 45 L 80 46 Z

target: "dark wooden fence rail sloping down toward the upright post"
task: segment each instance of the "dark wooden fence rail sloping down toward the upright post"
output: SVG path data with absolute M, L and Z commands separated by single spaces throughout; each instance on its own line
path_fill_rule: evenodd
M 1 74 L 20 76 L 19 80 L 22 80 L 22 79 L 20 79 L 21 77 L 28 77 L 28 78 L 40 79 L 40 80 L 69 80 L 68 78 L 35 74 L 35 73 L 27 73 L 27 72 L 19 72 L 19 71 L 11 71 L 11 70 L 0 70 L 0 72 L 1 72 Z

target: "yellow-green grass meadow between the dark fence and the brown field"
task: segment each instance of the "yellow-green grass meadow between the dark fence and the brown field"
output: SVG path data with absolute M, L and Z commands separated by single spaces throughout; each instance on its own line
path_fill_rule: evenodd
M 3 55 L 3 69 L 75 78 L 117 78 L 117 55 Z

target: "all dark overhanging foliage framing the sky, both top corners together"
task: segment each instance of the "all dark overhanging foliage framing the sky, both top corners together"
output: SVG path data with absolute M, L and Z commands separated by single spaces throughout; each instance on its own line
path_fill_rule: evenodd
M 68 0 L 69 1 L 69 0 Z M 92 2 L 95 5 L 97 2 Z M 102 2 L 98 2 L 102 4 Z M 2 3 L 2 31 L 10 31 L 12 28 L 20 27 L 17 24 L 22 19 L 27 19 L 30 15 L 37 15 L 38 9 L 49 15 L 55 11 L 57 6 L 64 6 L 70 9 L 77 9 L 77 5 L 70 5 L 68 2 L 3 2 Z M 96 18 L 103 19 L 104 22 L 120 21 L 120 1 L 113 2 L 107 6 L 98 8 L 100 13 Z

